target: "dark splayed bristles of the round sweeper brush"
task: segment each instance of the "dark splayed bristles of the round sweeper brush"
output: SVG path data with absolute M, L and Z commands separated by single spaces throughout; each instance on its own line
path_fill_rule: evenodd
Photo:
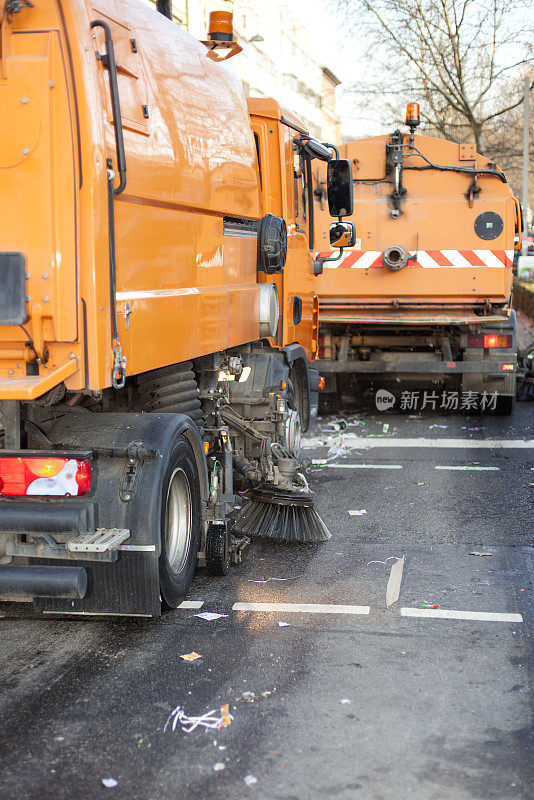
M 276 504 L 253 498 L 238 514 L 234 530 L 278 542 L 326 542 L 331 533 L 312 506 Z

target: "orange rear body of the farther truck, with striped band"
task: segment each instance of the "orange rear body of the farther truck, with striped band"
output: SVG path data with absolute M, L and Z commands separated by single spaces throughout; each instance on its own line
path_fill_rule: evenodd
M 510 295 L 517 201 L 498 174 L 479 174 L 473 183 L 473 174 L 429 167 L 431 162 L 498 173 L 472 145 L 418 135 L 414 143 L 421 156 L 410 149 L 409 134 L 399 136 L 404 191 L 398 212 L 388 161 L 392 137 L 358 139 L 340 148 L 353 165 L 356 243 L 339 260 L 325 262 L 318 277 L 319 369 L 330 376 L 331 391 L 336 374 L 350 374 L 354 382 L 428 373 L 433 381 L 453 376 L 464 389 L 511 396 L 514 375 L 497 373 L 502 361 L 515 370 L 513 348 L 491 354 L 470 347 L 471 341 L 468 346 L 467 337 L 502 328 L 515 347 Z M 315 241 L 321 256 L 334 256 L 323 183 L 319 165 Z M 403 268 L 386 266 L 384 253 L 392 246 L 406 251 Z M 499 363 L 486 363 L 490 356 Z

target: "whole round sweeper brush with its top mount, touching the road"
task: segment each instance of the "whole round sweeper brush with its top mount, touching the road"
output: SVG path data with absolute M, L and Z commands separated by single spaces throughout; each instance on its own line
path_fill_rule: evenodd
M 260 486 L 239 512 L 234 531 L 278 542 L 326 542 L 330 531 L 313 507 L 310 491 Z

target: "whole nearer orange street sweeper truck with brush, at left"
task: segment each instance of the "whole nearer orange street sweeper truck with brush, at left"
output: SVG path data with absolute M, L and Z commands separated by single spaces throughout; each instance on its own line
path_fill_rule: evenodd
M 294 158 L 309 186 L 328 160 L 343 207 L 350 165 L 274 102 L 249 113 L 229 14 L 206 42 L 137 0 L 0 14 L 0 598 L 157 615 L 248 534 L 329 535 L 298 461 L 318 373 Z

